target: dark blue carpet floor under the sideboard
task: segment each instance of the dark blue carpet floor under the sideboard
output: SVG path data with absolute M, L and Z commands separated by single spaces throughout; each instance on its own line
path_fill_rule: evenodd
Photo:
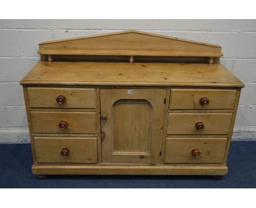
M 232 142 L 229 172 L 210 176 L 48 176 L 31 173 L 30 144 L 0 145 L 0 188 L 256 188 L 256 142 Z

